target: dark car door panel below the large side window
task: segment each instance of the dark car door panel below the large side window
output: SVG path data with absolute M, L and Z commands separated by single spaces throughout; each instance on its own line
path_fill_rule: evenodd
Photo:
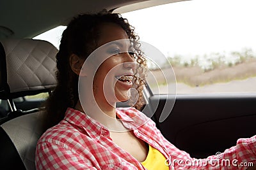
M 149 111 L 157 106 L 153 119 L 173 145 L 192 157 L 204 158 L 236 145 L 239 138 L 255 135 L 255 94 L 177 95 L 170 115 L 159 122 L 165 104 L 173 95 L 149 98 Z

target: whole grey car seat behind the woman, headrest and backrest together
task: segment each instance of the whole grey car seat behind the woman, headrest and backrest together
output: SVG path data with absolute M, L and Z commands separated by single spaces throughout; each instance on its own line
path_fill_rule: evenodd
M 44 111 L 16 110 L 12 99 L 50 92 L 56 86 L 57 52 L 51 43 L 42 40 L 0 41 L 0 99 L 8 100 L 12 110 L 0 120 L 1 169 L 35 169 Z

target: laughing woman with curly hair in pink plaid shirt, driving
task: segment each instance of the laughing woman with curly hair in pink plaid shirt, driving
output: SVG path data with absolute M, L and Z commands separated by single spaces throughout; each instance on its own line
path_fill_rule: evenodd
M 68 24 L 56 56 L 58 85 L 46 107 L 53 127 L 38 141 L 36 169 L 243 169 L 241 162 L 256 162 L 256 136 L 202 160 L 167 141 L 138 111 L 146 66 L 139 47 L 118 14 L 79 15 Z M 130 96 L 134 107 L 115 108 Z

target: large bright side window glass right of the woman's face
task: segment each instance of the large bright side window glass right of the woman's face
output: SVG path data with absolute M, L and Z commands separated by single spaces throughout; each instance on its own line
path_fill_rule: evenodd
M 193 0 L 122 16 L 168 59 L 160 69 L 148 62 L 154 76 L 172 64 L 177 94 L 256 92 L 255 6 L 253 0 Z M 147 81 L 155 94 L 168 92 L 168 76 Z

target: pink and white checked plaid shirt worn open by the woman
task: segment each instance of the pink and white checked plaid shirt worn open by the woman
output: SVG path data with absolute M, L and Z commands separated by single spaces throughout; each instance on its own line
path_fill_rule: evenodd
M 214 155 L 207 159 L 193 159 L 167 141 L 155 123 L 140 111 L 118 108 L 116 115 L 125 127 L 132 129 L 137 138 L 163 153 L 166 157 L 164 163 L 169 169 L 246 169 L 246 165 L 250 166 L 249 162 L 256 162 L 256 136 L 239 139 L 237 145 L 225 150 L 221 157 Z M 137 116 L 138 122 L 148 122 L 136 128 L 136 122 L 130 118 L 134 116 Z M 145 168 L 113 143 L 106 127 L 88 115 L 68 108 L 64 120 L 48 129 L 39 139 L 36 169 Z

